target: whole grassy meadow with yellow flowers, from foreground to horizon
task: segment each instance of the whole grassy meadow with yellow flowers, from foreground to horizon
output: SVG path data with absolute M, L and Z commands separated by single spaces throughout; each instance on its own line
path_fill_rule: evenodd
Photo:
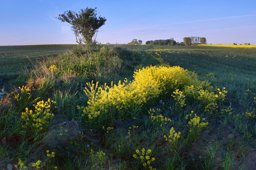
M 253 45 L 0 49 L 0 169 L 256 167 Z

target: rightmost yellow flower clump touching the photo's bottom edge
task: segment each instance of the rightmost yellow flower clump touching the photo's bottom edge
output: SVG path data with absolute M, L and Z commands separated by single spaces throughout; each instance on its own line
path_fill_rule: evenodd
M 151 149 L 148 149 L 147 152 L 145 152 L 145 149 L 142 148 L 141 152 L 138 149 L 135 150 L 135 152 L 136 153 L 133 154 L 133 158 L 139 160 L 143 164 L 144 168 L 156 170 L 156 168 L 152 168 L 152 166 L 150 166 L 150 163 L 155 160 L 154 157 L 150 158 Z

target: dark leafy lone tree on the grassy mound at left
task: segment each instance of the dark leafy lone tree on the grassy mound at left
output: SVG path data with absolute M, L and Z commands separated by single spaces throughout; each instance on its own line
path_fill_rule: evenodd
M 97 17 L 96 8 L 80 9 L 78 13 L 75 11 L 66 11 L 64 14 L 59 14 L 58 19 L 62 22 L 71 24 L 77 43 L 83 46 L 83 43 L 91 48 L 93 43 L 96 43 L 96 36 L 101 26 L 105 24 L 104 17 Z M 95 36 L 96 34 L 96 36 Z M 94 40 L 93 37 L 95 36 Z

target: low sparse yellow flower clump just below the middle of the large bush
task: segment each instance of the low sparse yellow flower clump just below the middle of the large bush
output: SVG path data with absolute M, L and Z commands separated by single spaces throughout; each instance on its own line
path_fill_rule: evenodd
M 168 122 L 171 122 L 170 118 L 164 117 L 161 114 L 158 115 L 154 115 L 155 113 L 155 109 L 149 109 L 149 115 L 150 115 L 150 119 L 153 123 L 153 125 L 155 127 L 163 127 L 164 125 L 166 125 Z M 160 109 L 157 109 L 157 112 L 160 112 Z

